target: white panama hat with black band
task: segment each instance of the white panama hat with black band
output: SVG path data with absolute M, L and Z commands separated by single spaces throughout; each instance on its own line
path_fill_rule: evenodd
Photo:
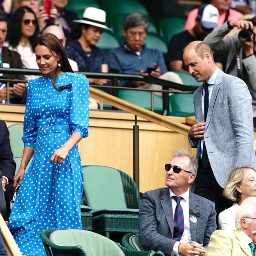
M 94 7 L 87 7 L 83 12 L 83 19 L 74 19 L 73 22 L 89 24 L 92 26 L 102 27 L 107 30 L 112 30 L 105 26 L 106 12 Z

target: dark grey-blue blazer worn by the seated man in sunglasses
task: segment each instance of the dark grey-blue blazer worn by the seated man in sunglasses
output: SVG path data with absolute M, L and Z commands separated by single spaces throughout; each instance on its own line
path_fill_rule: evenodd
M 189 214 L 197 219 L 189 222 L 192 241 L 207 247 L 211 233 L 216 230 L 215 203 L 189 192 Z M 139 239 L 142 250 L 161 250 L 170 256 L 173 240 L 173 209 L 169 188 L 145 192 L 139 208 Z

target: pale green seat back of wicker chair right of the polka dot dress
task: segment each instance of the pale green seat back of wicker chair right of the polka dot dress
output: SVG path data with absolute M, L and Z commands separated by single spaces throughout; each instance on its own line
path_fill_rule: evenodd
M 83 166 L 84 193 L 93 210 L 127 209 L 122 177 L 107 166 Z

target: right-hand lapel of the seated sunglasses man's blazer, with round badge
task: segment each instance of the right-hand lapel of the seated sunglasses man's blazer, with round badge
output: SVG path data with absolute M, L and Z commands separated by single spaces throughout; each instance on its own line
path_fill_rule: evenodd
M 198 224 L 198 218 L 196 214 L 200 214 L 200 205 L 197 201 L 197 198 L 193 193 L 189 192 L 189 226 L 190 226 L 190 234 L 191 240 L 197 241 L 196 239 L 196 229 Z

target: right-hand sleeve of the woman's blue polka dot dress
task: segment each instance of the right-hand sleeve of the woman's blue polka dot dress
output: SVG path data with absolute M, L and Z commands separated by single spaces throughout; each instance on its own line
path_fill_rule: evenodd
M 70 107 L 70 126 L 82 138 L 88 137 L 89 81 L 85 75 L 74 74 Z

